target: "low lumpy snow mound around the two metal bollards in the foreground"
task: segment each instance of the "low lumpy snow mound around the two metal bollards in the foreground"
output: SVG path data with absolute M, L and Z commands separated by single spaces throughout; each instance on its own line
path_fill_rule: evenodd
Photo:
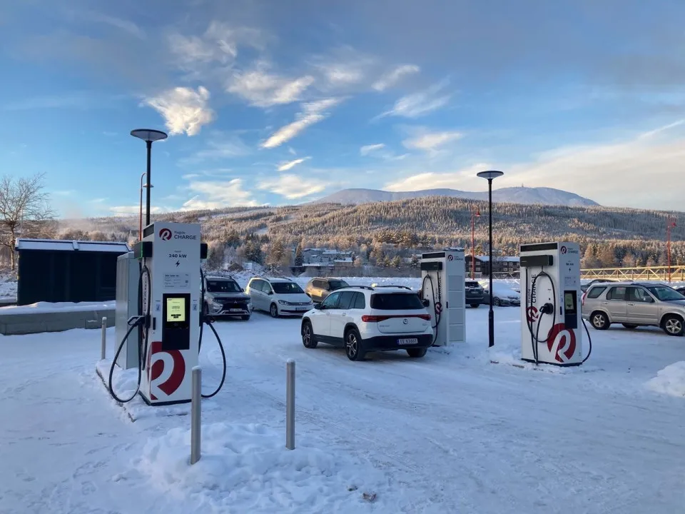
M 389 489 L 370 463 L 301 443 L 286 450 L 285 433 L 266 425 L 203 425 L 195 465 L 190 445 L 190 430 L 173 428 L 148 440 L 136 467 L 164 493 L 197 500 L 198 511 L 357 513 L 380 507 Z

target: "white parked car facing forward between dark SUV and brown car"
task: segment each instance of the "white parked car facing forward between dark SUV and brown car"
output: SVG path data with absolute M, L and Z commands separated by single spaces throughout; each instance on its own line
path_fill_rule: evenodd
M 313 305 L 302 288 L 288 278 L 250 278 L 245 293 L 252 299 L 253 310 L 268 312 L 272 318 L 302 316 Z

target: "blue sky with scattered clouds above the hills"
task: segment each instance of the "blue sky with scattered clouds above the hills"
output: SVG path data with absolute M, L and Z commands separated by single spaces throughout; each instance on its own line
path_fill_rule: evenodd
M 2 173 L 63 216 L 301 203 L 347 187 L 565 189 L 682 210 L 685 4 L 0 4 Z

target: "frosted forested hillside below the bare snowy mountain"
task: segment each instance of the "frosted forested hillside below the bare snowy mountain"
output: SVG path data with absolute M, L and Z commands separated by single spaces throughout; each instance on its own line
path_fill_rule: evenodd
M 480 252 L 487 248 L 487 203 L 462 198 L 412 198 L 359 206 L 230 208 L 158 217 L 184 222 L 199 220 L 206 241 L 225 243 L 239 250 L 244 250 L 241 247 L 248 241 L 249 246 L 262 246 L 265 255 L 269 253 L 269 244 L 278 241 L 278 246 L 285 248 L 298 244 L 349 248 L 370 256 L 374 246 L 381 243 L 390 243 L 396 251 L 447 245 L 470 248 L 472 211 L 482 215 L 475 221 L 475 240 Z M 666 263 L 667 215 L 662 211 L 628 208 L 497 203 L 492 213 L 494 251 L 515 255 L 519 243 L 565 239 L 581 243 L 586 267 Z M 137 236 L 137 218 L 98 218 L 91 223 L 106 238 Z M 684 236 L 683 228 L 673 228 L 674 263 L 685 263 L 685 246 L 681 243 Z

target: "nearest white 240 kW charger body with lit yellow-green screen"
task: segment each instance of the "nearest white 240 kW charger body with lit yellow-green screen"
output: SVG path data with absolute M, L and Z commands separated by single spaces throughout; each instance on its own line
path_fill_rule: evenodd
M 141 395 L 151 405 L 191 400 L 191 370 L 198 363 L 201 231 L 198 223 L 156 222 L 146 227 L 143 308 L 150 296 L 148 348 Z M 151 256 L 149 255 L 151 253 Z

